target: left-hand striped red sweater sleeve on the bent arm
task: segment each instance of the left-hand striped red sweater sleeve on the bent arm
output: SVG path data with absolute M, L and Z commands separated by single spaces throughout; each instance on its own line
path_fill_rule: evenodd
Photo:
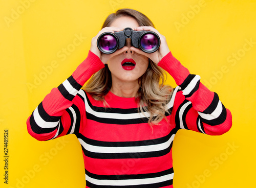
M 53 88 L 29 116 L 29 134 L 37 140 L 49 140 L 79 132 L 85 115 L 84 100 L 79 92 L 83 92 L 82 85 L 103 67 L 98 56 L 89 51 L 73 74 Z

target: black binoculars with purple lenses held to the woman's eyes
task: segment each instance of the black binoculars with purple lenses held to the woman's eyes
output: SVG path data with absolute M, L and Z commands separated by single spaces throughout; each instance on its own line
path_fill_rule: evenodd
M 112 54 L 125 46 L 126 39 L 131 38 L 131 44 L 145 53 L 153 53 L 159 49 L 160 38 L 153 31 L 134 31 L 125 28 L 119 32 L 104 32 L 97 39 L 100 52 Z

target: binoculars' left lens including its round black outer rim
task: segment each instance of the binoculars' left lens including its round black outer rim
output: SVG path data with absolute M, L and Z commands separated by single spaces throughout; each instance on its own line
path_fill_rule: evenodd
M 102 53 L 112 54 L 117 50 L 119 41 L 113 33 L 105 32 L 98 37 L 97 46 Z

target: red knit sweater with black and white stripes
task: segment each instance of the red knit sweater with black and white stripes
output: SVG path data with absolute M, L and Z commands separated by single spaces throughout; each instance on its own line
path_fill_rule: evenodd
M 111 91 L 108 108 L 94 100 L 82 85 L 104 67 L 89 51 L 88 57 L 66 81 L 53 88 L 27 120 L 28 132 L 38 140 L 75 134 L 81 144 L 87 187 L 173 187 L 172 145 L 179 129 L 220 135 L 231 127 L 231 113 L 200 76 L 168 53 L 158 64 L 176 81 L 166 104 L 166 117 L 153 129 L 148 112 L 138 110 L 135 98 Z M 170 113 L 167 113 L 169 111 Z

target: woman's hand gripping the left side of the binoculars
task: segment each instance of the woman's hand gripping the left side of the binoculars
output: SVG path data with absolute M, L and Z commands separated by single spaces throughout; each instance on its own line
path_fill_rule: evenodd
M 97 47 L 98 37 L 104 32 L 114 33 L 115 31 L 118 32 L 118 31 L 122 31 L 122 30 L 123 30 L 123 28 L 105 27 L 102 30 L 100 30 L 99 33 L 95 37 L 92 38 L 90 51 L 93 52 L 95 55 L 97 55 L 104 64 L 106 64 L 109 61 L 109 59 L 112 58 L 113 56 L 121 54 L 124 51 L 127 51 L 129 48 L 127 46 L 124 46 L 123 48 L 117 50 L 113 54 L 103 54 L 99 51 L 99 49 Z

